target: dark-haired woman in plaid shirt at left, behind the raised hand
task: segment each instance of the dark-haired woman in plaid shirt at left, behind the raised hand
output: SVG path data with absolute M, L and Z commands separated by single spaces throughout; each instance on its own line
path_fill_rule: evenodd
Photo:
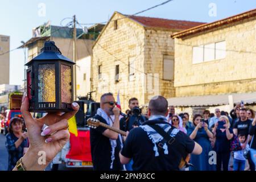
M 12 170 L 16 162 L 23 156 L 27 146 L 27 133 L 22 133 L 23 119 L 14 117 L 10 121 L 9 134 L 6 135 L 6 148 L 9 154 L 8 171 Z

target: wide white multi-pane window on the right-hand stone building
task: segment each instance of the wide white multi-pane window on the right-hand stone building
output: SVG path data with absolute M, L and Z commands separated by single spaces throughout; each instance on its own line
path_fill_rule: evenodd
M 226 57 L 226 42 L 216 42 L 193 47 L 192 63 L 203 63 Z

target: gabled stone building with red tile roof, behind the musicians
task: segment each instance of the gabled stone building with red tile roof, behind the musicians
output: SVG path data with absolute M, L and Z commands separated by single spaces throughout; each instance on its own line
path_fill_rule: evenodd
M 93 46 L 94 99 L 119 91 L 122 109 L 137 97 L 146 104 L 152 96 L 175 97 L 174 40 L 170 34 L 200 22 L 127 16 L 115 12 Z

